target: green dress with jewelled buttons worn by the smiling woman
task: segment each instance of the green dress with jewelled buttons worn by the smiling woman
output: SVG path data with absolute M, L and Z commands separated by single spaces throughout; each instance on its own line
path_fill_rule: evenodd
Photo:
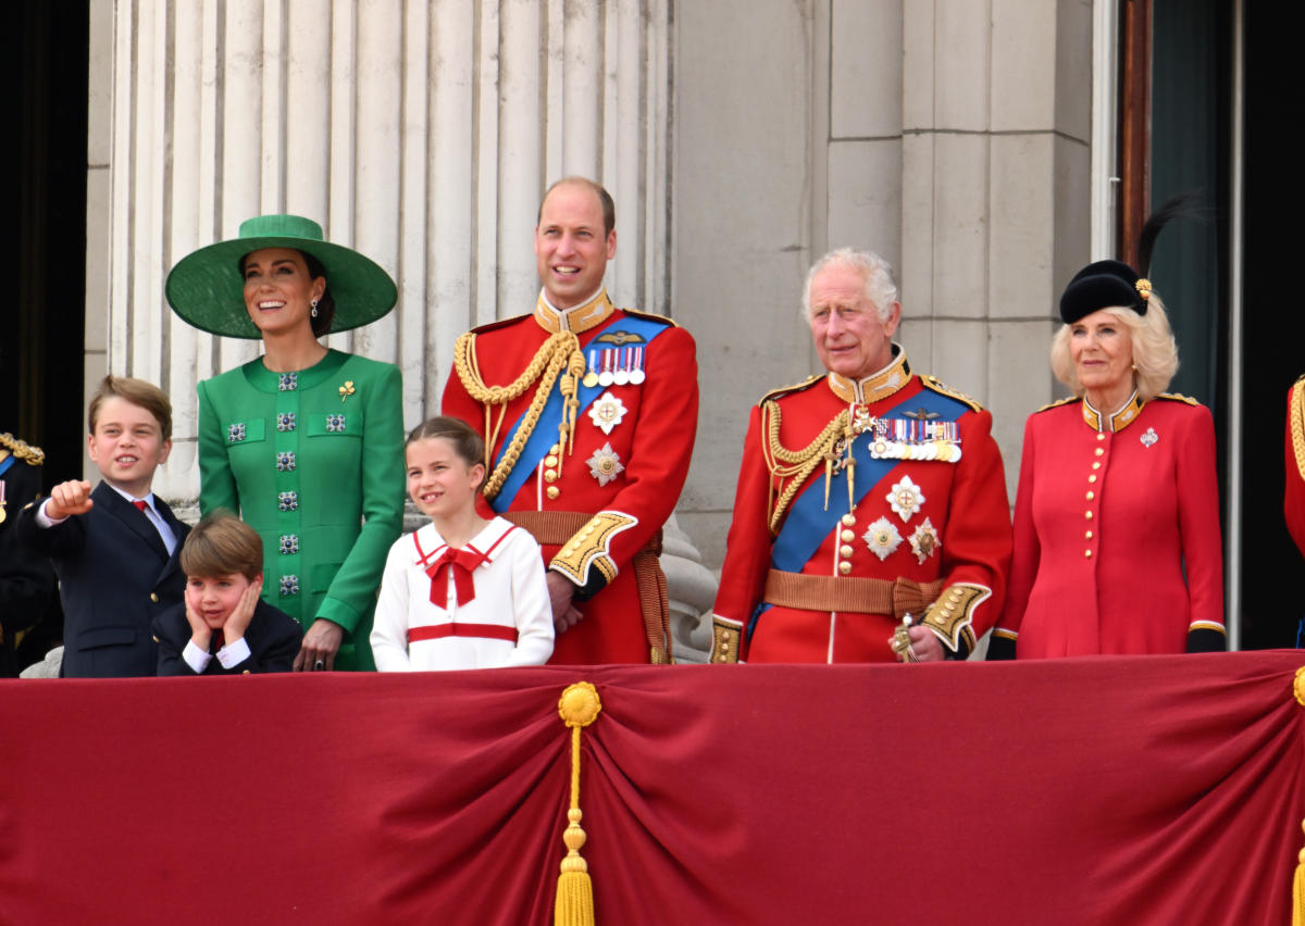
M 298 373 L 262 359 L 200 383 L 200 510 L 227 509 L 264 544 L 268 604 L 345 629 L 337 669 L 375 669 L 368 635 L 403 523 L 401 376 L 329 351 Z

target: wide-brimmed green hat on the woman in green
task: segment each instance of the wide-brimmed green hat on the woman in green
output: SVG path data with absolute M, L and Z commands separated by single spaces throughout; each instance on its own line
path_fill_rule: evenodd
M 240 223 L 240 236 L 187 254 L 167 275 L 167 301 L 202 331 L 228 338 L 261 338 L 244 304 L 240 258 L 261 248 L 295 248 L 316 257 L 335 300 L 331 331 L 375 322 L 394 308 L 398 288 L 390 275 L 352 248 L 322 240 L 322 227 L 299 215 L 257 215 Z

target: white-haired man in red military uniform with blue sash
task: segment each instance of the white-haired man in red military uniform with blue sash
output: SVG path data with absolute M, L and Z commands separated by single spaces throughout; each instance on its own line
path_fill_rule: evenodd
M 992 415 L 911 372 L 877 254 L 826 254 L 805 304 L 829 372 L 752 411 L 713 661 L 963 659 L 1010 566 Z

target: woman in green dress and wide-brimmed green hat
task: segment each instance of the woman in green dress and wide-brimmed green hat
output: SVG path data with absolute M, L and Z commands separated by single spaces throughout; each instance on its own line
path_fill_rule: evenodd
M 260 215 L 177 262 L 166 291 L 191 325 L 264 347 L 198 386 L 201 514 L 239 511 L 262 537 L 262 596 L 305 630 L 296 672 L 373 669 L 403 518 L 401 378 L 318 339 L 388 313 L 394 280 L 311 219 Z

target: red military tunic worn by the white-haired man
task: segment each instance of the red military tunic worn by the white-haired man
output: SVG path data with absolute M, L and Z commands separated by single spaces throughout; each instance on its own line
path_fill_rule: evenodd
M 886 416 L 894 408 L 910 415 L 932 389 L 958 396 L 960 459 L 893 460 L 887 473 L 868 486 L 851 511 L 846 488 L 840 496 L 831 494 L 829 510 L 842 516 L 818 537 L 800 575 L 823 576 L 829 579 L 825 587 L 835 588 L 837 584 L 829 583 L 844 576 L 941 582 L 941 593 L 927 613 L 941 617 L 946 610 L 953 633 L 938 633 L 928 618 L 925 626 L 938 634 L 946 655 L 963 656 L 1000 613 L 1010 565 L 1010 509 L 1001 453 L 990 434 L 992 415 L 936 381 L 927 383 L 912 376 L 900 352 L 890 366 L 860 383 L 830 373 L 770 398 L 780 412 L 779 445 L 797 450 L 810 445 L 840 412 L 860 406 L 872 417 Z M 744 445 L 728 550 L 714 606 L 713 661 L 893 661 L 895 656 L 887 643 L 897 626 L 893 614 L 813 610 L 765 601 L 767 574 L 775 566 L 776 535 L 770 527 L 770 513 L 774 501 L 800 476 L 775 476 L 767 466 L 773 416 L 767 404 L 763 400 L 752 410 Z M 900 415 L 894 417 L 903 425 L 910 421 Z M 869 436 L 855 440 L 867 441 Z M 859 494 L 860 479 L 853 475 Z M 889 496 L 897 488 L 911 493 L 914 503 L 898 505 L 900 510 L 895 510 Z M 822 505 L 823 466 L 817 466 L 799 489 L 799 494 L 817 493 L 813 501 Z M 916 532 L 929 528 L 936 544 L 914 549 L 911 539 L 919 539 Z M 958 610 L 953 612 L 953 606 Z M 924 616 L 916 610 L 912 617 Z

